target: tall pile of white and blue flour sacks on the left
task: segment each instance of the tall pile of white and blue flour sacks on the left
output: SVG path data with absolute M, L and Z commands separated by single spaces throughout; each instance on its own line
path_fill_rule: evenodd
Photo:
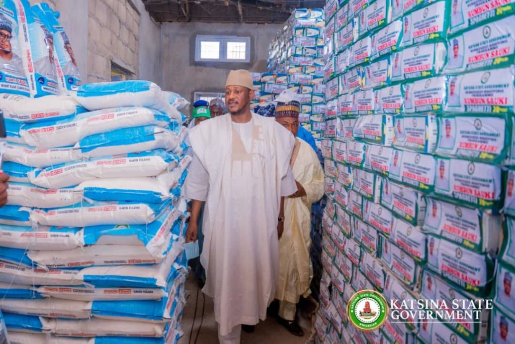
M 0 98 L 10 175 L 0 309 L 11 343 L 178 340 L 191 161 L 179 105 L 147 81 Z

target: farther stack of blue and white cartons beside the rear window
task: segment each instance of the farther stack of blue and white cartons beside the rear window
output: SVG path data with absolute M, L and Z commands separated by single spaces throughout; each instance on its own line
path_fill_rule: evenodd
M 322 9 L 295 10 L 284 29 L 268 48 L 268 71 L 264 74 L 261 100 L 273 100 L 277 92 L 290 89 L 301 103 L 300 121 L 315 139 L 323 132 L 325 109 L 323 85 L 324 14 Z M 280 92 L 279 92 L 280 93 Z

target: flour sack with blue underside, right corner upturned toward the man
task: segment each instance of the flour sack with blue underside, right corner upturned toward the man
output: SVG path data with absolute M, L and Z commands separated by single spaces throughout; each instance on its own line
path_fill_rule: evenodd
M 90 179 L 75 187 L 75 191 L 94 201 L 140 201 L 161 203 L 180 195 L 190 156 L 185 156 L 179 167 L 156 177 Z

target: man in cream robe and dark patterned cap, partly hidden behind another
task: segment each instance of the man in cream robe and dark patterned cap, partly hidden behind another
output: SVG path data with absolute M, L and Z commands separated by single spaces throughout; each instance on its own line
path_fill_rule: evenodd
M 291 101 L 278 105 L 276 120 L 295 137 L 290 166 L 297 183 L 297 192 L 284 201 L 284 233 L 279 240 L 279 300 L 278 321 L 291 334 L 303 336 L 295 321 L 300 296 L 311 294 L 313 266 L 310 261 L 311 205 L 322 198 L 324 173 L 315 151 L 297 137 L 300 103 Z

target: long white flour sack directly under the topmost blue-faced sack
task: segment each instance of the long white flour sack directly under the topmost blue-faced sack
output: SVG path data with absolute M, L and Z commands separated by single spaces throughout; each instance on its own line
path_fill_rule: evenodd
M 72 118 L 24 124 L 20 136 L 29 146 L 73 146 L 84 137 L 134 126 L 165 127 L 170 117 L 146 107 L 121 107 L 82 113 Z

